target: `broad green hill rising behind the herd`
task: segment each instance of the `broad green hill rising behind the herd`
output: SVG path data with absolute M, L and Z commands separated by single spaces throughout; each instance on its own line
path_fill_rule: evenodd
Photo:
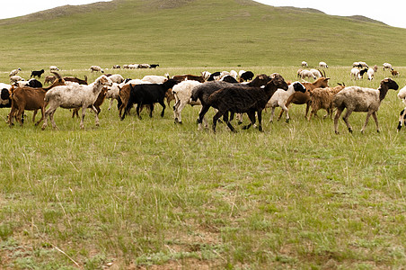
M 249 0 L 115 0 L 0 21 L 0 70 L 406 62 L 406 29 Z

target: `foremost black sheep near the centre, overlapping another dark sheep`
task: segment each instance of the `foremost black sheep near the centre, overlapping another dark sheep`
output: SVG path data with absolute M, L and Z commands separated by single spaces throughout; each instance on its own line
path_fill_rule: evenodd
M 287 90 L 287 82 L 285 82 L 285 79 L 282 76 L 272 74 L 269 83 L 263 88 L 253 86 L 240 87 L 234 85 L 222 88 L 215 93 L 210 94 L 208 97 L 208 103 L 210 106 L 218 110 L 215 116 L 213 116 L 213 132 L 216 133 L 216 123 L 222 115 L 224 115 L 224 120 L 228 128 L 235 132 L 233 125 L 228 120 L 228 112 L 246 112 L 248 114 L 251 123 L 243 126 L 243 130 L 248 130 L 255 124 L 256 112 L 258 114 L 258 130 L 262 131 L 262 110 L 278 88 Z

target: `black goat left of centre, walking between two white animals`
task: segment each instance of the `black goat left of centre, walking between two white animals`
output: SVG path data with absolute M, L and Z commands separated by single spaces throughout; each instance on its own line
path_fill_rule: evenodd
M 126 110 L 121 116 L 121 120 L 124 120 L 126 114 L 128 114 L 129 110 L 135 103 L 137 103 L 137 116 L 139 119 L 141 119 L 139 111 L 143 105 L 149 105 L 149 117 L 152 117 L 152 113 L 154 111 L 154 103 L 160 103 L 163 107 L 163 110 L 161 112 L 161 117 L 163 117 L 166 108 L 165 103 L 163 103 L 165 93 L 169 89 L 171 89 L 173 85 L 176 85 L 179 82 L 180 81 L 174 79 L 169 79 L 163 84 L 130 85 L 128 103 L 126 106 Z

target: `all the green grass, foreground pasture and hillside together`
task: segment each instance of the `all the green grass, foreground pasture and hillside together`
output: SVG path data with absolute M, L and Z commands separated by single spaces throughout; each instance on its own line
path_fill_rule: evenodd
M 93 81 L 91 65 L 143 62 L 161 67 L 118 72 L 245 69 L 295 81 L 302 60 L 324 60 L 331 86 L 376 88 L 389 75 L 386 61 L 406 85 L 403 29 L 243 0 L 186 2 L 114 1 L 86 14 L 0 21 L 8 40 L 0 82 L 16 67 L 27 78 L 57 65 Z M 361 59 L 381 67 L 372 82 L 349 79 Z M 119 121 L 108 103 L 100 127 L 86 112 L 84 130 L 60 108 L 59 130 L 35 127 L 32 112 L 23 127 L 3 122 L 0 268 L 402 269 L 406 130 L 396 131 L 396 94 L 378 112 L 382 131 L 371 120 L 364 135 L 365 113 L 351 115 L 353 134 L 340 120 L 335 135 L 324 112 L 305 120 L 303 105 L 292 105 L 289 123 L 269 123 L 268 111 L 264 132 L 235 124 L 236 134 L 224 124 L 216 134 L 198 131 L 199 107 L 190 106 L 182 125 L 171 107 L 163 118 L 156 105 L 152 119 L 144 111 L 142 120 Z M 8 112 L 0 109 L 0 119 Z

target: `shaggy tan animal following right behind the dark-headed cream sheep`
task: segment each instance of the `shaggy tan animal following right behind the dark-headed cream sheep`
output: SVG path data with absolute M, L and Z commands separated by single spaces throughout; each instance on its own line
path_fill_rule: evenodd
M 327 116 L 330 116 L 331 118 L 333 112 L 332 100 L 335 94 L 339 93 L 342 89 L 344 89 L 344 87 L 344 84 L 339 84 L 333 88 L 315 88 L 310 91 L 310 105 L 312 107 L 312 110 L 309 113 L 307 121 L 310 121 L 312 115 L 317 116 L 317 111 L 319 111 L 320 109 L 324 109 L 327 111 L 327 114 L 324 115 L 324 118 L 326 118 Z

